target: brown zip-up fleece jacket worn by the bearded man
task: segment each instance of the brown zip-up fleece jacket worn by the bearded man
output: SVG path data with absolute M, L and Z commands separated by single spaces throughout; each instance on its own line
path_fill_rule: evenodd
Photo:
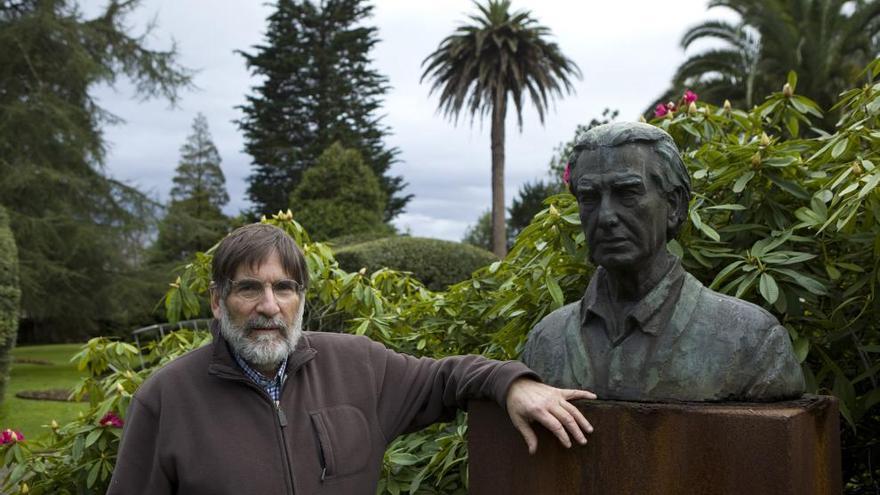
M 156 372 L 126 416 L 110 495 L 373 494 L 385 447 L 469 399 L 504 407 L 519 362 L 440 360 L 305 332 L 276 405 L 214 343 Z

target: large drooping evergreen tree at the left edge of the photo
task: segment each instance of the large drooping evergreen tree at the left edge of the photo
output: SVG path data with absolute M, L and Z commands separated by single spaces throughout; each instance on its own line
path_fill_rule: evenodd
M 137 3 L 111 0 L 85 19 L 74 0 L 0 1 L 0 204 L 28 332 L 77 338 L 134 318 L 144 299 L 133 260 L 153 205 L 104 172 L 101 128 L 115 119 L 91 90 L 125 76 L 141 96 L 174 101 L 189 75 L 173 49 L 128 33 Z

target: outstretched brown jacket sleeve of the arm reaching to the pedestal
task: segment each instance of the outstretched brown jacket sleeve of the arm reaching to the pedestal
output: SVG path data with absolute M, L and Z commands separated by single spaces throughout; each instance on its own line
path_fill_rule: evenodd
M 539 380 L 518 361 L 482 356 L 416 358 L 371 342 L 378 416 L 387 440 L 454 417 L 470 399 L 491 399 L 505 407 L 507 390 L 520 377 Z

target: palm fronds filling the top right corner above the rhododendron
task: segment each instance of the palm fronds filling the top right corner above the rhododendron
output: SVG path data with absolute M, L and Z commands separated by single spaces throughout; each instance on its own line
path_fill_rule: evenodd
M 670 94 L 685 87 L 704 99 L 729 99 L 740 106 L 779 91 L 790 70 L 798 93 L 829 108 L 857 83 L 864 66 L 880 54 L 880 2 L 876 0 L 712 0 L 741 22 L 708 21 L 687 31 L 683 48 L 698 39 L 722 42 L 679 67 Z M 665 101 L 664 95 L 660 101 Z M 716 101 L 716 103 L 719 101 Z M 833 125 L 828 120 L 826 126 Z

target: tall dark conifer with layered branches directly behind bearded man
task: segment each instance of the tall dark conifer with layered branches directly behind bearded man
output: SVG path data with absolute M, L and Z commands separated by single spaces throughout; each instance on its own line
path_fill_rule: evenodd
M 388 175 L 396 149 L 377 114 L 387 79 L 371 67 L 377 29 L 363 0 L 280 0 L 264 44 L 244 56 L 263 78 L 241 106 L 238 124 L 253 157 L 248 196 L 257 213 L 288 207 L 302 173 L 335 142 L 358 150 L 387 198 L 384 219 L 403 211 L 401 177 Z

